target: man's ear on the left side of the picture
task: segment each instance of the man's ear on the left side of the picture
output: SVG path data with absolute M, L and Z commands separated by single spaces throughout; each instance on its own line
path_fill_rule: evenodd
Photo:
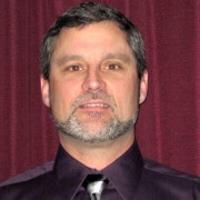
M 49 80 L 44 79 L 43 76 L 40 77 L 40 87 L 41 87 L 41 96 L 43 103 L 47 107 L 50 107 Z

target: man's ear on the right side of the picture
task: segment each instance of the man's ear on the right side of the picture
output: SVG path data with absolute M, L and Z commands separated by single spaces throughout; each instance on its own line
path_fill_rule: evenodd
M 140 104 L 146 100 L 147 93 L 148 93 L 148 71 L 144 70 L 140 80 L 140 97 L 139 97 Z

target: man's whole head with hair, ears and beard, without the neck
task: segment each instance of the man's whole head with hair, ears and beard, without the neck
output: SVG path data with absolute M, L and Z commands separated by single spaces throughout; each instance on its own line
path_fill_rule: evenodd
M 41 89 L 60 132 L 102 142 L 131 132 L 147 94 L 143 42 L 120 12 L 83 3 L 44 38 Z

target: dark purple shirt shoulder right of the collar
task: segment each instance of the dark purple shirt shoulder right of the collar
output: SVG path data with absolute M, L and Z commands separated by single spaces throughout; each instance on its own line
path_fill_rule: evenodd
M 171 197 L 200 198 L 200 178 L 144 159 L 142 180 L 150 189 Z

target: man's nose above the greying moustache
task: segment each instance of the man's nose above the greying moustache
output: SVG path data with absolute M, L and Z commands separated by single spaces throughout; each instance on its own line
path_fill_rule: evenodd
M 100 72 L 100 70 L 88 70 L 87 76 L 84 78 L 84 81 L 82 83 L 83 90 L 104 90 L 106 89 L 106 82 L 103 80 L 103 77 Z

